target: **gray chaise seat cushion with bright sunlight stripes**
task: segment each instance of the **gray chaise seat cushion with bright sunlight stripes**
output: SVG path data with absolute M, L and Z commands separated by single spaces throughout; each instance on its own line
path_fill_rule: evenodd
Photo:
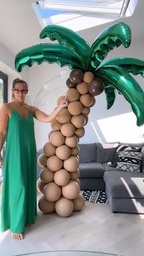
M 104 172 L 107 192 L 115 198 L 143 198 L 144 174 L 141 172 Z

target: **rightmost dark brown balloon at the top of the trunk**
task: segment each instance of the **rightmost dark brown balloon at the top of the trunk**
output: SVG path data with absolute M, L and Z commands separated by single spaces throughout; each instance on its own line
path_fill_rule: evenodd
M 99 78 L 93 79 L 93 81 L 88 84 L 88 92 L 93 96 L 101 94 L 103 90 L 104 84 Z

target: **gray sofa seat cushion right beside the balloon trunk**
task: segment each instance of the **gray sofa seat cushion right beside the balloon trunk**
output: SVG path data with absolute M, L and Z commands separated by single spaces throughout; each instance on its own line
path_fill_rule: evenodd
M 79 164 L 80 178 L 103 178 L 104 167 L 100 163 Z

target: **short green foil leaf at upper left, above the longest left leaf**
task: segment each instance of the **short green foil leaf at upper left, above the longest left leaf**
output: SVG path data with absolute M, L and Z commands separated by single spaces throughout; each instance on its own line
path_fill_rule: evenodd
M 40 32 L 40 38 L 49 37 L 51 41 L 58 40 L 61 45 L 65 45 L 73 49 L 87 68 L 87 56 L 90 52 L 90 45 L 78 35 L 76 32 L 67 27 L 49 25 L 44 27 Z

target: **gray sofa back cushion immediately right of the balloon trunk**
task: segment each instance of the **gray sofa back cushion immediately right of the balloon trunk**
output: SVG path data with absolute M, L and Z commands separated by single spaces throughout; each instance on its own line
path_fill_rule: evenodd
M 95 143 L 78 144 L 79 146 L 79 163 L 95 163 L 96 162 L 96 146 Z

